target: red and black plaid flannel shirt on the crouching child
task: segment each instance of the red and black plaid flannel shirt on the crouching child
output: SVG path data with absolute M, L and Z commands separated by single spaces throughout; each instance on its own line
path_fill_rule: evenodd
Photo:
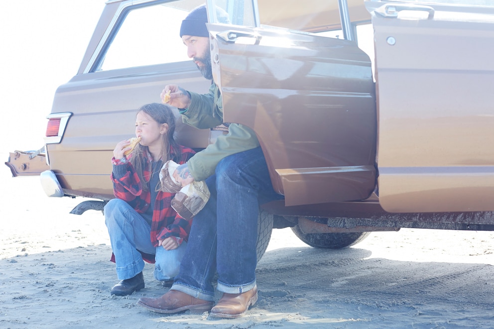
M 181 159 L 175 159 L 174 151 L 173 149 L 171 150 L 172 159 L 178 164 L 187 162 L 195 153 L 192 149 L 184 146 L 181 146 L 181 150 Z M 148 154 L 143 161 L 143 168 L 146 168 L 143 176 L 146 179 L 146 184 L 149 184 L 151 173 L 147 168 L 149 168 L 149 163 L 152 161 L 151 156 Z M 112 173 L 111 178 L 113 181 L 115 197 L 126 201 L 138 213 L 145 213 L 151 203 L 151 193 L 142 190 L 141 181 L 130 162 L 123 162 L 113 158 L 112 163 L 115 165 L 126 166 L 127 169 L 127 172 L 121 179 L 115 179 Z M 148 190 L 149 188 L 154 187 L 148 187 Z M 179 244 L 181 244 L 183 240 L 187 241 L 188 239 L 192 219 L 183 219 L 175 212 L 170 206 L 173 197 L 174 194 L 162 191 L 159 191 L 156 195 L 150 235 L 151 242 L 155 247 L 158 246 L 158 240 L 163 240 L 169 236 L 174 236 Z M 149 259 L 149 257 L 143 254 L 143 258 L 148 262 L 154 262 L 154 257 Z

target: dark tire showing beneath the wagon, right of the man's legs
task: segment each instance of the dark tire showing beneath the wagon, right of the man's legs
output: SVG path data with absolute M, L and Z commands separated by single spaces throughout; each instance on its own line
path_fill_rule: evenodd
M 364 240 L 371 232 L 350 233 L 303 233 L 298 225 L 293 226 L 293 233 L 314 248 L 341 249 L 350 247 Z

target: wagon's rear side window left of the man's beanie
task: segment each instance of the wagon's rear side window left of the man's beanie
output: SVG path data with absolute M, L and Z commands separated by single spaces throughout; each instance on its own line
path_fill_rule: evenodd
M 123 12 L 111 43 L 103 50 L 97 71 L 122 69 L 189 60 L 180 24 L 189 10 L 180 2 L 138 7 Z

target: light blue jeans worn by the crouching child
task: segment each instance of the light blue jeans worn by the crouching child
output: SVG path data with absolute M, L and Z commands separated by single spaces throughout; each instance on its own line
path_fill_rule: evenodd
M 144 268 L 144 261 L 138 250 L 155 255 L 156 280 L 170 280 L 178 274 L 187 242 L 182 242 L 173 250 L 165 250 L 161 246 L 154 247 L 150 237 L 151 226 L 124 200 L 110 200 L 104 213 L 119 280 L 130 279 Z

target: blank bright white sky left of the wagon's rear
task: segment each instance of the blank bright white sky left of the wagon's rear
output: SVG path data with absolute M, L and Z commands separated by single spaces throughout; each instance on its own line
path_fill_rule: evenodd
M 0 154 L 43 146 L 55 91 L 77 73 L 104 6 L 105 0 L 1 2 Z

